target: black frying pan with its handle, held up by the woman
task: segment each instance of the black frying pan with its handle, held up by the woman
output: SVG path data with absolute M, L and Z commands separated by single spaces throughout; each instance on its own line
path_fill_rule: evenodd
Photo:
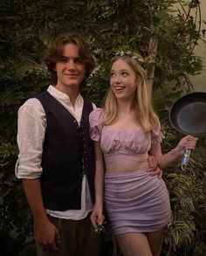
M 169 111 L 173 128 L 185 135 L 206 134 L 206 93 L 189 93 L 176 100 Z M 182 168 L 189 161 L 190 150 L 185 150 Z

